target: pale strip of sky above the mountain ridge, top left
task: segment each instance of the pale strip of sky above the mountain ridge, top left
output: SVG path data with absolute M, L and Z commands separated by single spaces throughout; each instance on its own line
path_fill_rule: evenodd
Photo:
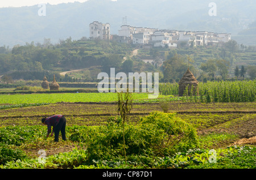
M 22 7 L 22 6 L 34 6 L 40 3 L 49 3 L 51 5 L 57 5 L 59 3 L 68 2 L 85 2 L 88 0 L 1 0 L 0 7 Z M 112 0 L 117 1 L 117 0 Z

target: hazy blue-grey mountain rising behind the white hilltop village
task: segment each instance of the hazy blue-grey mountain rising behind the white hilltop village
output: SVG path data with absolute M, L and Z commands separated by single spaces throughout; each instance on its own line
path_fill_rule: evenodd
M 214 0 L 217 16 L 210 16 L 212 0 L 89 0 L 84 3 L 46 5 L 46 16 L 40 7 L 0 8 L 0 46 L 24 45 L 50 38 L 53 44 L 68 37 L 89 37 L 94 20 L 110 23 L 112 34 L 118 34 L 123 17 L 137 27 L 186 31 L 229 32 L 232 36 L 248 28 L 256 17 L 254 0 Z M 246 43 L 243 43 L 246 44 Z

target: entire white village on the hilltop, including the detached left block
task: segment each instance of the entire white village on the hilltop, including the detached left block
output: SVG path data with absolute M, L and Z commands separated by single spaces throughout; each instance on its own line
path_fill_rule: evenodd
M 90 39 L 113 40 L 139 46 L 177 48 L 178 46 L 216 45 L 231 40 L 231 33 L 177 31 L 121 25 L 118 35 L 110 33 L 109 23 L 90 23 Z

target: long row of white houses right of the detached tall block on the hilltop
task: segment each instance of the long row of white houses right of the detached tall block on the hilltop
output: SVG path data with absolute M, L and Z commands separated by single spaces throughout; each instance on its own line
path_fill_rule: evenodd
M 113 36 L 114 37 L 114 36 Z M 207 46 L 231 40 L 230 33 L 176 31 L 122 25 L 115 40 L 123 43 L 162 47 Z

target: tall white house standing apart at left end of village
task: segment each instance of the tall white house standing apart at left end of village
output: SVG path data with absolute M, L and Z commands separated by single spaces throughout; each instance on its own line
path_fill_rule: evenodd
M 98 38 L 101 40 L 109 40 L 110 39 L 110 24 L 102 24 L 94 21 L 90 23 L 90 38 Z

